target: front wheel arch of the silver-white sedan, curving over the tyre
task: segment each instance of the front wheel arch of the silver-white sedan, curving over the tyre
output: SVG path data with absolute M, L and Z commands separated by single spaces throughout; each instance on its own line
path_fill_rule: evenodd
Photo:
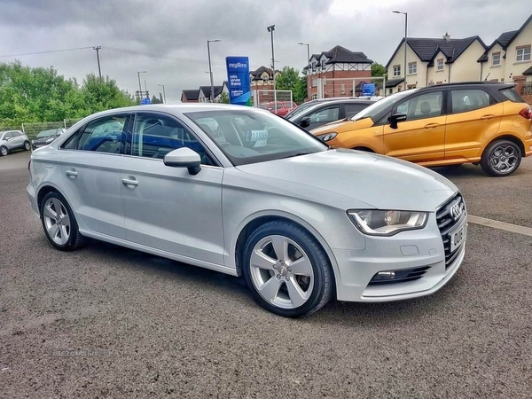
M 273 221 L 281 221 L 281 222 L 287 222 L 287 223 L 293 223 L 300 227 L 301 229 L 307 231 L 314 239 L 316 239 L 317 244 L 321 247 L 321 249 L 324 251 L 325 255 L 327 256 L 327 260 L 329 261 L 329 264 L 332 267 L 332 278 L 333 278 L 333 287 L 336 289 L 336 276 L 338 272 L 338 265 L 336 264 L 336 260 L 334 258 L 334 255 L 332 254 L 332 249 L 326 244 L 325 239 L 314 229 L 312 226 L 309 225 L 309 223 L 305 223 L 302 220 L 299 220 L 299 218 L 294 218 L 287 216 L 287 215 L 256 215 L 252 220 L 249 220 L 246 222 L 246 224 L 243 226 L 243 228 L 239 231 L 239 236 L 236 241 L 236 245 L 234 246 L 234 259 L 235 259 L 235 265 L 237 274 L 239 277 L 243 276 L 243 259 L 242 255 L 244 254 L 244 246 L 246 246 L 246 241 L 249 238 L 249 236 L 255 231 L 259 226 L 262 226 L 264 223 L 269 223 Z M 335 293 L 334 293 L 335 295 Z

